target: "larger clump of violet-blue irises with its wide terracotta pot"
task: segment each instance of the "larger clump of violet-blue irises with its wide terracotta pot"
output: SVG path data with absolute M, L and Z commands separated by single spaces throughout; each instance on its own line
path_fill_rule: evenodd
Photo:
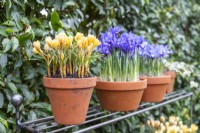
M 100 80 L 95 89 L 101 107 L 110 111 L 137 109 L 147 85 L 146 79 L 139 79 L 138 49 L 144 39 L 111 27 L 101 33 L 100 41 Z

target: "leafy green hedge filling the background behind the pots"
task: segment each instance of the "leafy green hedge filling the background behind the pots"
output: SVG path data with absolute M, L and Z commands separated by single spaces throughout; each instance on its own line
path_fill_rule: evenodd
M 46 15 L 41 14 L 42 10 Z M 200 125 L 200 1 L 198 0 L 2 0 L 0 1 L 0 131 L 13 132 L 13 94 L 24 97 L 22 119 L 51 115 L 42 85 L 46 74 L 42 61 L 34 58 L 32 41 L 41 40 L 59 29 L 66 32 L 99 33 L 110 26 L 143 35 L 151 43 L 168 44 L 172 61 L 194 66 L 190 77 L 176 79 L 176 89 L 194 93 L 193 122 Z M 95 68 L 93 69 L 95 71 Z M 94 104 L 95 98 L 91 102 Z M 184 106 L 184 108 L 183 108 Z M 189 122 L 189 100 L 167 105 L 163 115 L 178 115 Z M 145 121 L 158 110 L 117 123 L 116 132 L 145 132 Z M 109 132 L 110 128 L 97 132 Z

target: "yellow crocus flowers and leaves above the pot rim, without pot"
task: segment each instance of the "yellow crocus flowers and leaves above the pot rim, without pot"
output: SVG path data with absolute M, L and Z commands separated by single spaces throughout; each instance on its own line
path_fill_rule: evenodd
M 67 36 L 59 33 L 55 39 L 46 37 L 43 50 L 39 41 L 33 42 L 33 52 L 47 63 L 48 77 L 88 77 L 94 49 L 100 41 L 94 35 Z

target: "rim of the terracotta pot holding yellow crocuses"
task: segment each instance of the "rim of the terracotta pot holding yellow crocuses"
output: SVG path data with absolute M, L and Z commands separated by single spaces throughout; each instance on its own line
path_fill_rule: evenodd
M 94 88 L 97 77 L 89 78 L 49 78 L 43 77 L 47 89 L 88 89 Z

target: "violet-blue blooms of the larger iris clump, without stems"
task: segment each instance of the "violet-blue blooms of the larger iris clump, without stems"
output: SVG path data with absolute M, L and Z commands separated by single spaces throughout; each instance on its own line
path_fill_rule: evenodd
M 105 55 L 112 53 L 113 50 L 133 54 L 135 49 L 141 47 L 140 45 L 145 42 L 142 36 L 137 36 L 132 32 L 124 32 L 120 35 L 120 32 L 120 27 L 110 27 L 108 32 L 101 33 L 101 44 L 98 46 L 98 51 Z

